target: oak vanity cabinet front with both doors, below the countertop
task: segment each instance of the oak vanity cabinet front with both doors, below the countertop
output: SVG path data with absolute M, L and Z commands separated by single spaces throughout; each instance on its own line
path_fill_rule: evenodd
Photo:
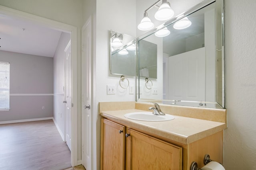
M 101 170 L 122 169 L 181 170 L 182 147 L 102 119 Z

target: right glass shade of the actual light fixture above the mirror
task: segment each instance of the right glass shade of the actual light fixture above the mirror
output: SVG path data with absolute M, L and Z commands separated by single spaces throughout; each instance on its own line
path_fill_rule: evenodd
M 174 16 L 174 11 L 167 3 L 163 3 L 155 14 L 156 20 L 159 20 L 159 21 L 169 20 L 173 16 Z

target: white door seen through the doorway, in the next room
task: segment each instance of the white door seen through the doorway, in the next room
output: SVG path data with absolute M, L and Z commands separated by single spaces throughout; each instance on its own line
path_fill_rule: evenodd
M 71 81 L 72 81 L 72 63 L 71 63 L 71 41 L 69 41 L 65 49 L 65 141 L 68 148 L 71 150 L 71 113 L 72 113 L 72 101 L 71 101 Z

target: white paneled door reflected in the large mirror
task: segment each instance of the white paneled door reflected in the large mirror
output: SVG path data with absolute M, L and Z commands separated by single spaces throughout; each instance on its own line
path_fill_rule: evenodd
M 171 100 L 205 101 L 205 47 L 169 57 Z

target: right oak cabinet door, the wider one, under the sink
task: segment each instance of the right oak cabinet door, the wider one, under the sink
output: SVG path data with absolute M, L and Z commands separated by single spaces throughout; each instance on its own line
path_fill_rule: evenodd
M 126 170 L 181 170 L 182 148 L 138 131 L 126 131 Z

